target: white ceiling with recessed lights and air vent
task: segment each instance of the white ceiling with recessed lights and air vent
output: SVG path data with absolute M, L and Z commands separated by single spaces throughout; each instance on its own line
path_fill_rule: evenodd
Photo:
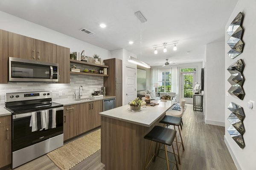
M 125 48 L 150 65 L 202 61 L 205 45 L 224 40 L 224 26 L 237 0 L 1 0 L 0 10 L 110 51 Z M 140 23 L 134 12 L 148 20 Z M 105 23 L 106 28 L 99 24 Z M 79 31 L 93 31 L 89 36 Z M 134 41 L 133 45 L 128 42 Z M 179 41 L 158 48 L 163 42 Z M 187 51 L 191 51 L 187 54 Z M 163 64 L 158 64 L 163 65 Z

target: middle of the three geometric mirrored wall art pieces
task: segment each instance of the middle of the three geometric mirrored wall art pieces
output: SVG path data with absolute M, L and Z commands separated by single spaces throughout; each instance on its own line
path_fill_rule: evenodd
M 245 93 L 243 89 L 243 84 L 244 84 L 244 76 L 243 76 L 243 71 L 244 71 L 244 63 L 242 59 L 239 59 L 232 65 L 230 65 L 227 68 L 227 71 L 230 72 L 231 76 L 227 80 L 230 84 L 231 87 L 228 90 L 229 94 L 232 96 L 243 100 Z

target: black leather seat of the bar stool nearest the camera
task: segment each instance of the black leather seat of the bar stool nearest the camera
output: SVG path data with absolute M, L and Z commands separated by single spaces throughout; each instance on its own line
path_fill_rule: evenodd
M 145 139 L 171 146 L 177 131 L 162 126 L 155 126 L 144 136 Z

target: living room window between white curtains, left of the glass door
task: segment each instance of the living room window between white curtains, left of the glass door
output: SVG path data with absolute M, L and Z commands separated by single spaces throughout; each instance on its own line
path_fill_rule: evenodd
M 157 92 L 171 92 L 171 71 L 157 72 Z

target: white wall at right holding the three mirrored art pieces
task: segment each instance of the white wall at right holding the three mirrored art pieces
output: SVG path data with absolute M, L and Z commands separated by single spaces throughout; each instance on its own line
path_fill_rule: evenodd
M 244 61 L 244 91 L 245 96 L 243 100 L 236 99 L 235 97 L 229 95 L 225 97 L 225 142 L 230 149 L 230 153 L 233 156 L 233 159 L 236 163 L 238 170 L 256 170 L 255 163 L 255 153 L 256 153 L 256 135 L 255 135 L 255 122 L 256 122 L 256 111 L 252 111 L 247 108 L 247 102 L 249 100 L 256 101 L 256 76 L 255 76 L 255 66 L 256 66 L 256 57 L 255 57 L 255 40 L 256 40 L 256 1 L 255 0 L 239 0 L 236 4 L 236 7 L 233 13 L 230 16 L 230 19 L 227 22 L 225 27 L 225 42 L 229 39 L 226 30 L 229 24 L 233 21 L 236 15 L 239 12 L 244 14 L 244 22 L 242 27 L 244 28 L 244 51 L 235 59 L 228 57 L 227 52 L 230 50 L 230 47 L 225 43 L 225 68 L 227 69 L 229 65 L 236 62 L 239 59 Z M 227 82 L 227 79 L 230 77 L 230 73 L 225 71 L 225 90 L 227 91 L 230 88 L 230 83 Z M 230 102 L 235 102 L 244 108 L 244 142 L 245 147 L 241 149 L 236 142 L 231 138 L 227 132 L 227 128 L 230 126 L 227 117 L 230 115 L 230 111 L 227 109 L 227 106 Z

